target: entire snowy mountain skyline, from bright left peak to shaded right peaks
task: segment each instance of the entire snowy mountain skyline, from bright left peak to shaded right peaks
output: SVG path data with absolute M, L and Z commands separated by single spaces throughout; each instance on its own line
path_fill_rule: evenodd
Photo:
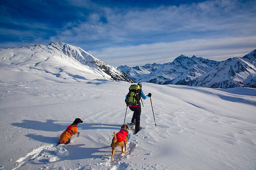
M 46 75 L 65 80 L 92 79 L 214 88 L 256 87 L 256 50 L 243 57 L 214 61 L 180 55 L 173 62 L 114 67 L 80 47 L 63 42 L 0 49 L 0 71 Z M 24 76 L 25 77 L 25 76 Z

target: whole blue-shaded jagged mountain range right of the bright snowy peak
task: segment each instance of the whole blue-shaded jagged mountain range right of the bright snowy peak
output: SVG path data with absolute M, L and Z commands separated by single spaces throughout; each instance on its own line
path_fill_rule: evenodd
M 214 88 L 256 87 L 256 50 L 222 62 L 180 55 L 164 64 L 118 68 L 136 82 Z

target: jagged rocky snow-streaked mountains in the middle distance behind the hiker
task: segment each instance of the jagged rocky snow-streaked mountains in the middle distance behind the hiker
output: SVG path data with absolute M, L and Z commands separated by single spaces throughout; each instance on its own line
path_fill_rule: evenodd
M 180 55 L 173 62 L 144 66 L 119 66 L 134 81 L 156 84 L 176 84 L 180 80 L 193 80 L 219 65 L 220 62 L 193 56 Z

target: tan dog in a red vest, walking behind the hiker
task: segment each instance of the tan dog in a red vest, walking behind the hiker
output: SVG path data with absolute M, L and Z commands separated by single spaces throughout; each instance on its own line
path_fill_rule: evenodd
M 126 144 L 127 144 L 127 137 L 128 137 L 128 130 L 129 127 L 128 125 L 122 125 L 120 132 L 118 132 L 117 134 L 115 134 L 114 132 L 114 138 L 112 140 L 111 143 L 111 148 L 112 148 L 112 154 L 111 154 L 111 162 L 113 162 L 113 156 L 115 154 L 115 148 L 120 146 L 122 148 L 122 153 L 127 153 L 126 152 Z M 125 148 L 125 150 L 123 151 L 123 148 Z

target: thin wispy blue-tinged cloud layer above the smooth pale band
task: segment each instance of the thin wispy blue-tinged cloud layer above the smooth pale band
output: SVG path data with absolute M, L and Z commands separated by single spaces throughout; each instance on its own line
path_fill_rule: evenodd
M 93 7 L 96 8 L 95 4 Z M 175 42 L 179 40 L 256 35 L 252 1 L 214 0 L 156 8 L 97 6 L 83 22 L 69 22 L 51 40 L 105 47 Z

